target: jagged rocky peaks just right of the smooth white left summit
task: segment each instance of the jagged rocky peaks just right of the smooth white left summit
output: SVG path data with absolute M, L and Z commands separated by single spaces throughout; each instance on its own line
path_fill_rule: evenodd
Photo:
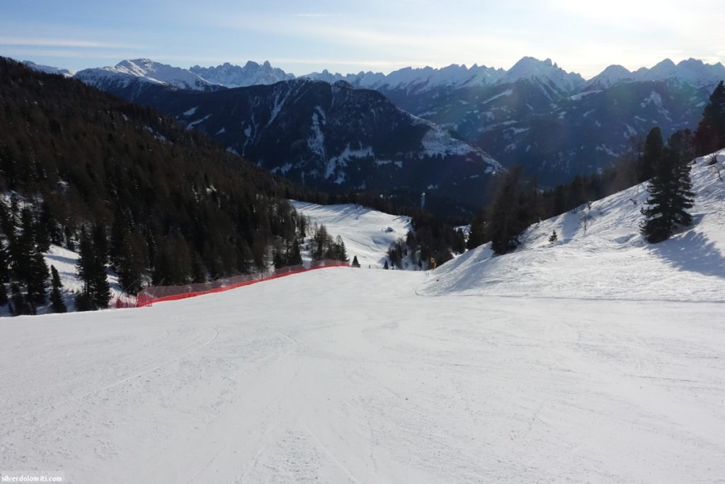
M 257 62 L 250 60 L 244 67 L 229 62 L 216 67 L 194 65 L 189 70 L 210 83 L 230 88 L 273 84 L 294 79 L 294 74 L 288 74 L 278 67 L 272 67 L 269 61 L 259 65 Z

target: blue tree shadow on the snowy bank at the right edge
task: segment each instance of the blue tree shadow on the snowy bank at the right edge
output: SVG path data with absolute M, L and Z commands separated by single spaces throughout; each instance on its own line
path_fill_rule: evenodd
M 702 232 L 689 231 L 682 237 L 649 247 L 652 253 L 681 271 L 725 279 L 725 256 Z

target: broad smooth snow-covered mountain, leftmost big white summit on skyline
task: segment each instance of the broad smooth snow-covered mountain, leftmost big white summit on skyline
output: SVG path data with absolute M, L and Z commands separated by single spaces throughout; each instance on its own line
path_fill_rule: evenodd
M 181 67 L 154 62 L 150 59 L 123 60 L 114 67 L 84 69 L 75 78 L 99 89 L 130 86 L 133 83 L 151 83 L 172 86 L 177 89 L 205 91 L 213 83 Z

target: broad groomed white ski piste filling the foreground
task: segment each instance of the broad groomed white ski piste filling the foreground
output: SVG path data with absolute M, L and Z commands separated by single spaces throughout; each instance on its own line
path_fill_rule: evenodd
M 671 269 L 675 271 L 675 269 Z M 718 303 L 327 268 L 0 321 L 0 469 L 70 483 L 716 482 Z

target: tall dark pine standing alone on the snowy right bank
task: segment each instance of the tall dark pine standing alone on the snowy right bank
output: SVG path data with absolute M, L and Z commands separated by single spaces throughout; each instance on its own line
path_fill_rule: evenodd
M 655 175 L 647 185 L 650 197 L 647 208 L 642 208 L 645 221 L 640 224 L 647 242 L 657 243 L 668 239 L 677 226 L 688 226 L 692 216 L 687 213 L 694 205 L 692 182 L 689 178 L 693 145 L 689 130 L 677 131 L 668 140 L 668 146 Z

